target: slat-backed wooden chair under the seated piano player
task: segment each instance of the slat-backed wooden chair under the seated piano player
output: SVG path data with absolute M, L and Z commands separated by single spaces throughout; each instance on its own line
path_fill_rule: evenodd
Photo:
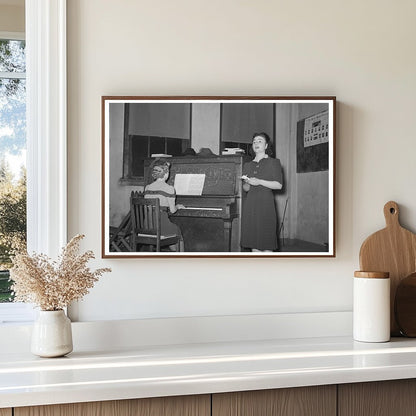
M 132 235 L 130 238 L 131 251 L 139 251 L 142 245 L 154 247 L 161 251 L 162 247 L 177 244 L 181 246 L 181 236 L 162 235 L 160 220 L 160 202 L 158 198 L 147 199 L 143 194 L 132 191 L 130 196 L 130 218 Z

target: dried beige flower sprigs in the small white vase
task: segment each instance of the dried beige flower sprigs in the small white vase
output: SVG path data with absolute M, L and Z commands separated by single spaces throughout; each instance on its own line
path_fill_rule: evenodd
M 87 267 L 94 254 L 92 251 L 78 254 L 83 238 L 81 234 L 73 237 L 62 249 L 58 261 L 45 254 L 17 253 L 10 269 L 14 301 L 34 303 L 41 310 L 56 311 L 85 296 L 99 277 L 111 269 L 92 271 Z

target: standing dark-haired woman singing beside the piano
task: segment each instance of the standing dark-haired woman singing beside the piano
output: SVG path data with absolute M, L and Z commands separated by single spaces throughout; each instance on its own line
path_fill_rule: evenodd
M 253 135 L 254 159 L 243 166 L 243 202 L 241 246 L 251 251 L 273 251 L 278 248 L 277 214 L 274 190 L 282 189 L 282 166 L 272 156 L 270 137 Z

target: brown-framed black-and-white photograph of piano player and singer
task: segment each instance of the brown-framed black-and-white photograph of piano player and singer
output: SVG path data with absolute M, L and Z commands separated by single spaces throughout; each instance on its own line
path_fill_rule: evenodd
M 102 256 L 335 257 L 335 97 L 102 97 Z

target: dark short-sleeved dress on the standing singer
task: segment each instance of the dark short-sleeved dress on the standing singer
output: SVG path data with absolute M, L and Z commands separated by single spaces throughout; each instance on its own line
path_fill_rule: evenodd
M 282 166 L 279 159 L 263 158 L 243 166 L 243 175 L 282 183 Z M 277 214 L 272 189 L 250 186 L 243 201 L 241 246 L 258 250 L 276 250 Z

